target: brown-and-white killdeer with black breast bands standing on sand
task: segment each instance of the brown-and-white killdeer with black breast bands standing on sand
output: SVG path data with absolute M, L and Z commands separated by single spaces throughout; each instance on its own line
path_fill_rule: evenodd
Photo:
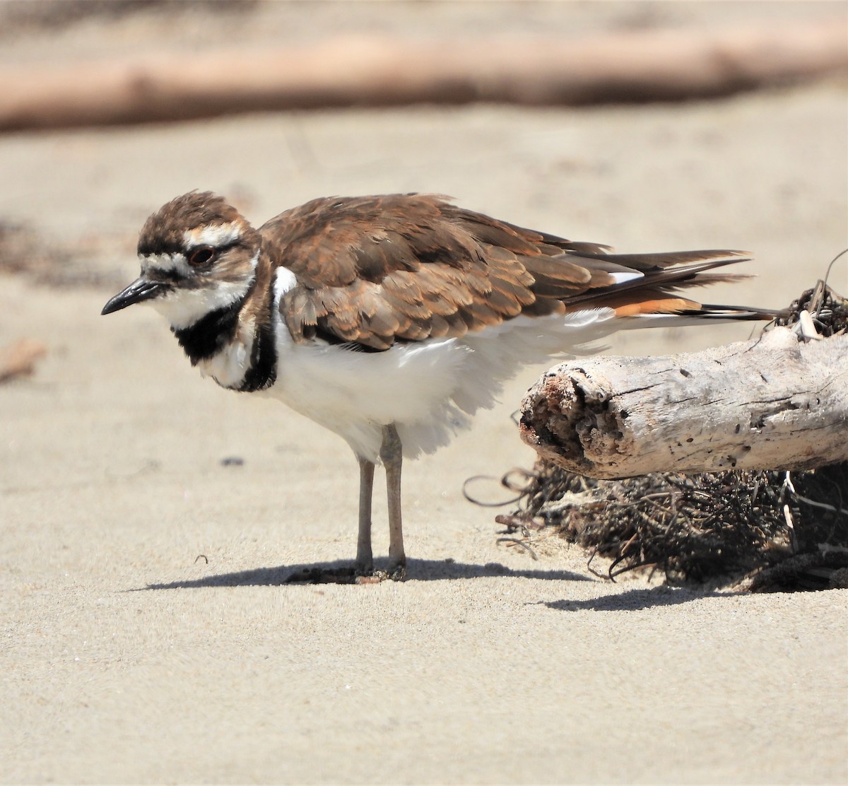
M 388 576 L 404 576 L 400 469 L 490 407 L 522 364 L 591 351 L 624 327 L 765 319 L 678 290 L 737 251 L 612 254 L 461 209 L 447 198 L 319 198 L 254 229 L 211 192 L 151 215 L 141 276 L 103 314 L 148 303 L 192 365 L 338 433 L 360 465 L 354 571 L 373 573 L 371 490 L 388 487 Z

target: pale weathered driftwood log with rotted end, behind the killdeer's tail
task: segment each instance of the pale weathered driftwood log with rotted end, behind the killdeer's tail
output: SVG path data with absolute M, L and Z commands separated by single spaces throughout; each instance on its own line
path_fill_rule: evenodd
M 695 354 L 574 360 L 522 404 L 522 438 L 566 470 L 804 470 L 848 460 L 848 336 L 775 328 Z

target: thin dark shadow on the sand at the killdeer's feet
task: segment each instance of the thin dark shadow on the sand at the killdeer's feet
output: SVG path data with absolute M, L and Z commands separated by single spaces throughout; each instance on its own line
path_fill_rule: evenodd
M 298 583 L 314 583 L 308 580 L 298 581 L 296 577 L 315 573 L 338 571 L 349 566 L 349 562 L 321 562 L 307 565 L 281 565 L 276 567 L 254 568 L 250 571 L 232 573 L 215 573 L 211 576 L 184 579 L 178 582 L 148 584 L 130 590 L 140 592 L 148 589 L 192 589 L 204 587 L 276 587 L 282 584 L 296 585 Z M 379 564 L 377 568 L 379 568 Z M 512 570 L 499 562 L 488 562 L 485 565 L 471 565 L 453 560 L 409 560 L 406 565 L 406 581 L 433 582 L 458 578 L 486 578 L 511 576 L 522 578 L 538 578 L 566 582 L 587 582 L 595 579 L 582 576 L 572 571 L 534 571 Z M 354 583 L 341 581 L 338 583 Z

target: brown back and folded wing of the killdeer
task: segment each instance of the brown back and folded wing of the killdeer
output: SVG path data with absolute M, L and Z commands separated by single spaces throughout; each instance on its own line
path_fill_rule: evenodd
M 565 312 L 572 301 L 618 293 L 616 272 L 652 279 L 668 265 L 734 254 L 616 256 L 419 194 L 315 199 L 259 231 L 273 262 L 298 278 L 280 306 L 295 341 L 318 336 L 376 350 Z M 676 278 L 672 288 L 683 285 Z

